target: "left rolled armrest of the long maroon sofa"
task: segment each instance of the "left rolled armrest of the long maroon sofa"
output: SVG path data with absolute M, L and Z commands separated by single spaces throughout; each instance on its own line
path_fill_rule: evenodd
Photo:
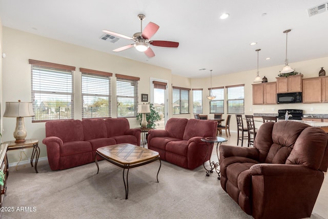
M 59 137 L 50 136 L 46 137 L 42 143 L 47 146 L 47 156 L 50 169 L 59 170 L 60 147 L 63 145 L 63 140 Z

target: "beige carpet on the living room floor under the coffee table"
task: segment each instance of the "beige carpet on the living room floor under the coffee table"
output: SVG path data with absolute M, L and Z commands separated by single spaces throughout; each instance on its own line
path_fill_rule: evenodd
M 28 165 L 11 167 L 4 207 L 15 210 L 2 218 L 252 218 L 202 166 L 187 170 L 162 161 L 159 183 L 159 161 L 131 169 L 128 200 L 122 169 L 106 161 L 99 167 L 99 174 L 94 163 L 51 171 L 44 160 L 37 174 Z

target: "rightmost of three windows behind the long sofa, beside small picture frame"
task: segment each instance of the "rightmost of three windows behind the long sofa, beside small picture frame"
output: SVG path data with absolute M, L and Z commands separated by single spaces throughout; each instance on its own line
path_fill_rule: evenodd
M 116 74 L 117 117 L 137 115 L 139 80 L 139 77 Z

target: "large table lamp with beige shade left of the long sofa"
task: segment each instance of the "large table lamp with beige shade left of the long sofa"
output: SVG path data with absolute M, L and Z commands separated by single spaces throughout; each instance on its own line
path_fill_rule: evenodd
M 16 117 L 16 128 L 14 138 L 16 143 L 25 142 L 27 135 L 24 117 L 34 116 L 33 104 L 28 102 L 6 102 L 6 110 L 4 117 Z

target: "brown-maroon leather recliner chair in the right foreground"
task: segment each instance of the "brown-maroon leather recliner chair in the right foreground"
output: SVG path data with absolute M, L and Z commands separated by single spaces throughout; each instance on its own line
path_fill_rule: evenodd
M 219 147 L 221 186 L 254 218 L 310 217 L 327 171 L 327 144 L 320 128 L 264 123 L 254 147 Z

